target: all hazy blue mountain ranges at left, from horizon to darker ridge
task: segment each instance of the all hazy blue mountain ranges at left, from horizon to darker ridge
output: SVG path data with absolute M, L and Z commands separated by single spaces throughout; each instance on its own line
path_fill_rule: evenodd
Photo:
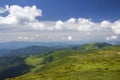
M 45 53 L 55 49 L 73 46 L 72 43 L 60 42 L 1 42 L 0 57 L 12 54 L 30 55 Z

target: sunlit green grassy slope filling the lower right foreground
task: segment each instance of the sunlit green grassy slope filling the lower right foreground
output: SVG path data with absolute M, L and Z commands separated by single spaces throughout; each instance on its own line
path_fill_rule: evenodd
M 31 71 L 6 80 L 120 80 L 120 46 L 60 50 L 25 61 L 33 67 Z

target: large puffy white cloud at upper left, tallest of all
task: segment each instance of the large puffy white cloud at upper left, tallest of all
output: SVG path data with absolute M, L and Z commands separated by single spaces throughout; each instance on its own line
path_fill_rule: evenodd
M 8 12 L 6 17 L 0 16 L 0 24 L 24 24 L 36 21 L 36 17 L 42 16 L 42 10 L 36 6 L 21 7 L 18 5 L 6 6 L 0 10 L 1 13 Z

